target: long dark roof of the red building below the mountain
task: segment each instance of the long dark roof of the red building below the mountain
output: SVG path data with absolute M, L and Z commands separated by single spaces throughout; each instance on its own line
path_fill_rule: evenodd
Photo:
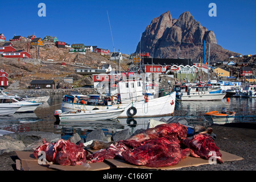
M 144 64 L 160 64 L 160 65 L 190 65 L 192 66 L 193 63 L 190 59 L 161 59 L 161 58 L 143 58 Z

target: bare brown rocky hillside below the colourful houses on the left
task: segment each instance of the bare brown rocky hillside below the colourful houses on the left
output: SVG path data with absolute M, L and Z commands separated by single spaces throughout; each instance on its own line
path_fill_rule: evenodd
M 27 51 L 26 42 L 12 42 L 16 50 Z M 3 43 L 0 43 L 2 45 Z M 110 61 L 110 56 L 102 56 L 100 53 L 86 52 L 68 53 L 68 48 L 57 48 L 53 43 L 46 43 L 38 49 L 31 47 L 31 59 L 11 59 L 0 57 L 0 69 L 9 73 L 10 89 L 25 89 L 30 85 L 31 80 L 55 80 L 59 88 L 71 86 L 64 83 L 64 77 L 73 77 L 75 87 L 92 85 L 92 76 L 75 74 L 75 68 L 81 66 L 88 68 L 101 68 L 103 64 L 110 64 L 115 68 L 115 63 Z M 54 61 L 47 61 L 52 59 Z M 65 63 L 66 65 L 63 65 Z M 124 61 L 121 68 L 127 71 L 127 64 Z

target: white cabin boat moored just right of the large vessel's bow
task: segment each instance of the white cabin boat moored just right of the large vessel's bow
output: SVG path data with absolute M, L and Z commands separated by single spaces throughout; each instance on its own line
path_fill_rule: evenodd
M 177 100 L 181 101 L 211 101 L 222 100 L 226 93 L 221 90 L 210 92 L 209 86 L 176 85 Z

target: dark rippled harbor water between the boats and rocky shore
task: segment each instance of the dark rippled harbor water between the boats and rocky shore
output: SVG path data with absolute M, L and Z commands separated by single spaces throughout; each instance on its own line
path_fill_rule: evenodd
M 147 129 L 150 119 L 160 120 L 167 117 L 154 118 L 121 118 L 113 121 L 65 121 L 56 122 L 53 116 L 55 110 L 60 109 L 63 96 L 51 96 L 50 100 L 40 105 L 34 113 L 17 113 L 10 116 L 0 117 L 0 129 L 14 132 L 26 131 L 47 131 L 61 134 L 67 139 L 74 133 L 78 133 L 82 138 L 95 129 L 101 129 L 105 134 L 113 134 L 116 131 L 129 129 L 134 133 L 138 129 Z M 236 98 L 231 97 L 228 102 L 225 98 L 221 101 L 176 101 L 174 115 L 175 118 L 184 118 L 189 125 L 210 126 L 212 121 L 204 113 L 208 111 L 221 111 L 226 107 L 228 111 L 235 111 L 234 122 L 256 122 L 256 98 Z

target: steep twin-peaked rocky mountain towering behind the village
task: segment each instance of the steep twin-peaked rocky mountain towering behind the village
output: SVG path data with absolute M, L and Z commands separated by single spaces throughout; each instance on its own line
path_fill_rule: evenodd
M 239 55 L 219 46 L 214 32 L 203 27 L 188 11 L 178 19 L 173 19 L 170 11 L 154 18 L 143 32 L 136 53 L 149 52 L 158 58 L 200 60 L 201 57 L 203 60 L 204 40 L 207 51 L 210 44 L 211 63 Z

